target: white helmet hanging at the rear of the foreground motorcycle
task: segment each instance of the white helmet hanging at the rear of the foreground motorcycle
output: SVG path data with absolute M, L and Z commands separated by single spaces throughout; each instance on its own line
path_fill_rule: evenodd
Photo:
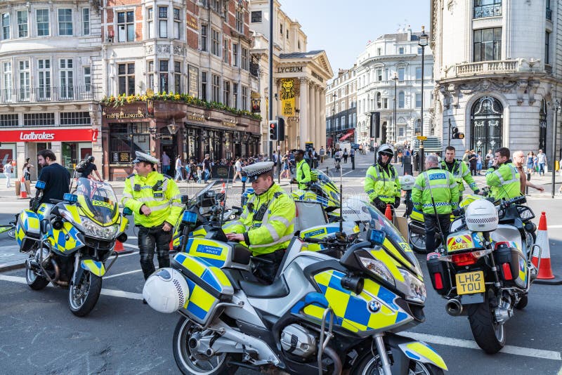
M 148 277 L 143 287 L 143 298 L 159 313 L 176 312 L 188 296 L 188 283 L 174 268 L 160 268 Z

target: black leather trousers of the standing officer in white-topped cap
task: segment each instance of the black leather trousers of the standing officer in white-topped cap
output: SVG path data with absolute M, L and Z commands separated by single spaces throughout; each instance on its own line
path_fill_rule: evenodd
M 141 268 L 145 279 L 148 279 L 154 267 L 154 253 L 158 257 L 158 267 L 164 268 L 170 266 L 170 241 L 172 232 L 164 232 L 162 230 L 164 223 L 156 227 L 146 228 L 142 225 L 138 228 L 138 252 L 141 254 Z

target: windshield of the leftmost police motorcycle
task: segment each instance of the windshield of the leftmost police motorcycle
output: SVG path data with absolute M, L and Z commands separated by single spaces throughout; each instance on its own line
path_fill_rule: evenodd
M 111 225 L 118 213 L 117 197 L 110 184 L 79 178 L 76 185 L 78 203 L 86 216 L 100 225 Z

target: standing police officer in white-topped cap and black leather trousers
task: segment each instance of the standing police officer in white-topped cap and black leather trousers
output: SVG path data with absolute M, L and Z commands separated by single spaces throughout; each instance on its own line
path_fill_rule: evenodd
M 133 211 L 138 229 L 138 249 L 145 279 L 155 271 L 153 259 L 156 252 L 159 268 L 169 267 L 169 243 L 172 227 L 178 221 L 182 205 L 176 182 L 155 171 L 158 159 L 143 152 L 135 152 L 133 160 L 136 174 L 125 180 L 124 207 Z

